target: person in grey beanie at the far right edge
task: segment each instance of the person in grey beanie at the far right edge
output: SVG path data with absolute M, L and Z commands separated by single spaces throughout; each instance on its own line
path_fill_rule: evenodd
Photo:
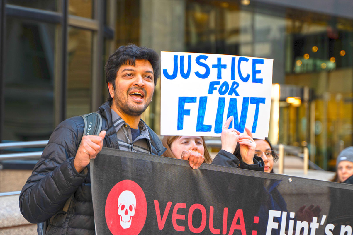
M 338 183 L 350 183 L 353 176 L 353 146 L 345 148 L 337 157 L 336 175 L 331 180 Z M 351 179 L 349 181 L 349 179 Z M 349 182 L 348 182 L 349 181 Z

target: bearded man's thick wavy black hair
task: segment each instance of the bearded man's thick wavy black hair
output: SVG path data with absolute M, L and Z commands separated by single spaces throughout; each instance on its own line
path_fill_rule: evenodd
M 115 52 L 109 56 L 106 66 L 106 82 L 113 84 L 115 89 L 115 78 L 122 64 L 135 65 L 136 60 L 149 61 L 153 68 L 154 84 L 156 86 L 159 70 L 160 70 L 160 57 L 157 52 L 153 49 L 146 47 L 138 47 L 135 44 L 128 44 L 126 46 L 120 46 Z M 108 87 L 109 90 L 109 87 Z M 108 101 L 112 100 L 112 97 L 108 95 Z

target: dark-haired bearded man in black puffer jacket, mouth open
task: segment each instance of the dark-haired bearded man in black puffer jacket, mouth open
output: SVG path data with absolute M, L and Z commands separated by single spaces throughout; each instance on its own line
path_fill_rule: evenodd
M 95 234 L 90 159 L 102 147 L 154 155 L 165 151 L 140 119 L 151 103 L 159 69 L 160 58 L 149 48 L 121 46 L 109 56 L 105 70 L 110 96 L 97 111 L 102 131 L 83 136 L 82 117 L 68 118 L 55 128 L 19 197 L 29 222 L 46 222 L 46 234 Z M 189 161 L 192 165 L 198 159 Z

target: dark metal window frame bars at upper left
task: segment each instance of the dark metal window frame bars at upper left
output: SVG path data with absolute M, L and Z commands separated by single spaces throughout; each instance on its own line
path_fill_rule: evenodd
M 68 14 L 68 1 L 58 1 L 58 12 L 40 10 L 30 7 L 16 6 L 0 2 L 0 51 L 6 46 L 5 26 L 6 17 L 16 17 L 38 22 L 51 23 L 61 27 L 61 35 L 58 39 L 59 44 L 56 45 L 58 50 L 55 51 L 56 62 L 54 69 L 54 126 L 66 118 L 66 91 L 67 91 L 67 29 L 68 26 L 79 27 L 81 29 L 90 30 L 93 33 L 92 47 L 92 93 L 91 93 L 91 111 L 96 111 L 102 102 L 102 69 L 103 69 L 103 43 L 104 38 L 113 39 L 114 30 L 112 27 L 104 25 L 105 2 L 94 1 L 94 19 L 72 16 Z M 3 69 L 2 61 L 3 53 L 0 53 L 0 142 L 2 142 L 2 127 L 4 126 L 4 86 L 3 86 Z

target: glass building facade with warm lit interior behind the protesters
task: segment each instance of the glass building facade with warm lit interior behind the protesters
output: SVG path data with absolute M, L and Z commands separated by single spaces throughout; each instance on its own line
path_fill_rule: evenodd
M 353 145 L 352 1 L 1 1 L 1 142 L 96 111 L 119 45 L 273 58 L 269 137 L 333 170 Z M 260 117 L 261 118 L 261 117 Z M 160 83 L 143 114 L 160 133 Z

